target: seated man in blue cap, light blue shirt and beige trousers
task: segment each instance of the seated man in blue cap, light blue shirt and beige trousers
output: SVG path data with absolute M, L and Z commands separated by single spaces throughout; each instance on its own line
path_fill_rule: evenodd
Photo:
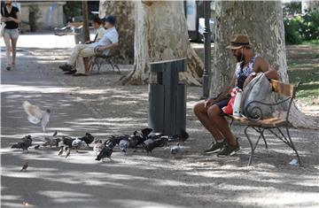
M 63 71 L 69 71 L 69 74 L 74 74 L 74 76 L 87 76 L 88 73 L 85 72 L 83 58 L 93 57 L 97 53 L 107 55 L 111 48 L 118 45 L 119 34 L 114 27 L 115 22 L 115 17 L 107 17 L 105 19 L 105 28 L 107 28 L 105 35 L 98 42 L 76 45 L 67 63 L 60 65 L 59 68 Z M 74 68 L 76 62 L 78 62 L 77 68 Z

